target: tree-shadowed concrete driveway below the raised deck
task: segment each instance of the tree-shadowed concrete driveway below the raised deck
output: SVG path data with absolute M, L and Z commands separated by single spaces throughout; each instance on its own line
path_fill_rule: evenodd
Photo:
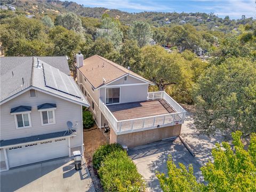
M 137 165 L 139 173 L 145 178 L 147 191 L 162 191 L 156 178 L 156 171 L 167 173 L 166 161 L 169 155 L 172 155 L 177 165 L 179 162 L 186 166 L 192 164 L 195 176 L 198 180 L 202 180 L 200 164 L 183 146 L 179 138 L 135 147 L 129 149 L 128 154 Z

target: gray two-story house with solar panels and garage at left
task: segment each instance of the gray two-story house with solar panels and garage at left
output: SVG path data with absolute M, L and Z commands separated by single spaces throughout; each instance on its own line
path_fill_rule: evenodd
M 82 106 L 66 57 L 2 57 L 1 171 L 83 151 Z

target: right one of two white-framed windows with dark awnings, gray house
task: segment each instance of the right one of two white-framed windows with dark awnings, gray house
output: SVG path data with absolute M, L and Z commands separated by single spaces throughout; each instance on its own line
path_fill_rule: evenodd
M 37 106 L 38 111 L 41 114 L 42 125 L 55 124 L 55 109 L 56 104 L 54 103 L 44 103 Z

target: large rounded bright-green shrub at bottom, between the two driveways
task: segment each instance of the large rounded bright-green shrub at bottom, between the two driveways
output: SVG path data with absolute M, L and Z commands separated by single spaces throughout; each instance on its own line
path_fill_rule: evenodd
M 124 150 L 108 154 L 98 171 L 105 191 L 145 191 L 145 182 Z

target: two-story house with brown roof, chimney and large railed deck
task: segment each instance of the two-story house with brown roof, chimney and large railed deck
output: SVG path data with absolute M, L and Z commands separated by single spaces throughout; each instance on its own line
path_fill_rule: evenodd
M 178 136 L 186 110 L 164 91 L 110 60 L 76 55 L 77 83 L 98 127 L 110 127 L 110 143 L 134 147 Z

